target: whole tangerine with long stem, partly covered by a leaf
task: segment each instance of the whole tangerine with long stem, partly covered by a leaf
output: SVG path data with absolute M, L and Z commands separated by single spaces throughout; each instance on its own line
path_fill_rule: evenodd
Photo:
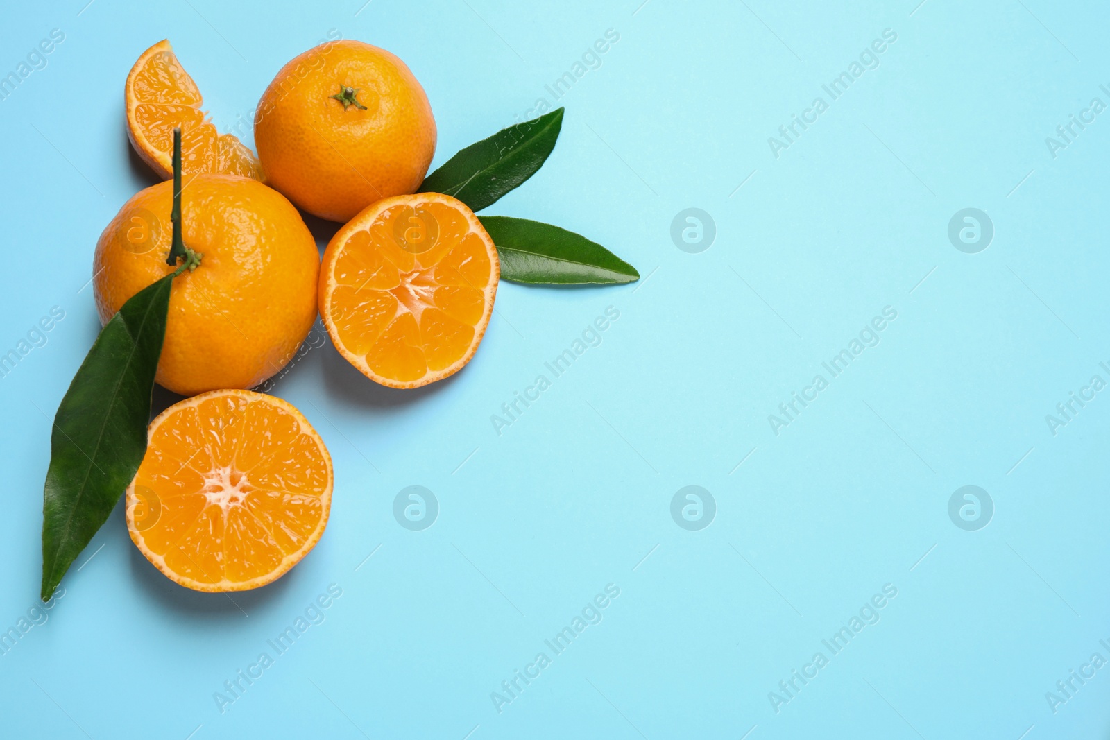
M 173 272 L 173 182 L 129 200 L 97 242 L 93 294 L 101 323 Z M 183 241 L 203 254 L 174 278 L 157 381 L 191 396 L 252 388 L 295 354 L 316 320 L 320 253 L 301 214 L 262 183 L 225 174 L 186 179 Z

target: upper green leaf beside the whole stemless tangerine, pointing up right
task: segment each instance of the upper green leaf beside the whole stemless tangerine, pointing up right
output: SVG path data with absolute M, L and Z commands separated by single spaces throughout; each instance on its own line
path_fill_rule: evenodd
M 543 166 L 563 126 L 563 109 L 502 129 L 471 144 L 430 174 L 421 193 L 443 193 L 471 211 L 492 205 Z

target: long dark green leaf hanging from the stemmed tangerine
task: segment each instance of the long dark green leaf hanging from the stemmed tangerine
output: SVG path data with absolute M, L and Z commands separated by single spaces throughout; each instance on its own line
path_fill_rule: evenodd
M 108 519 L 147 453 L 151 392 L 175 275 L 123 304 L 58 407 L 42 495 L 43 601 Z

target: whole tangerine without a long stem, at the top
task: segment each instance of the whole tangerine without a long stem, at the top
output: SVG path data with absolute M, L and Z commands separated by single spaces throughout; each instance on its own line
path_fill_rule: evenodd
M 332 95 L 357 90 L 344 110 Z M 361 41 L 311 49 L 259 101 L 254 143 L 268 182 L 313 215 L 346 222 L 416 192 L 435 154 L 432 107 L 400 59 Z

